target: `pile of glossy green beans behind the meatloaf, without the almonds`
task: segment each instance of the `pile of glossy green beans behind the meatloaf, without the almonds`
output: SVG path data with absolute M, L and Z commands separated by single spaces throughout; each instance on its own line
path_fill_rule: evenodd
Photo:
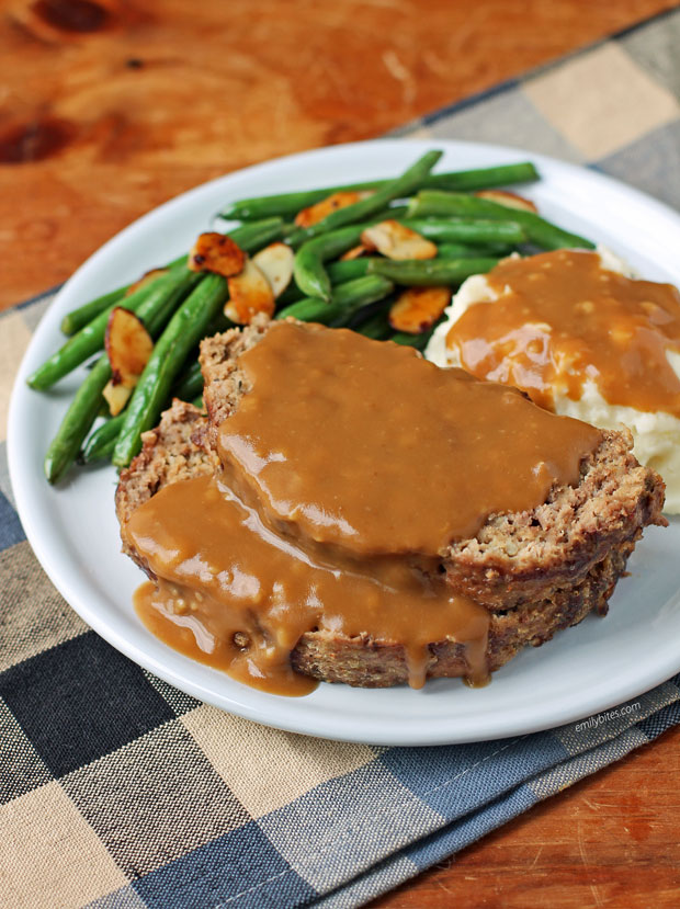
M 287 243 L 295 252 L 294 281 L 276 300 L 275 318 L 348 326 L 367 338 L 423 350 L 433 328 L 406 334 L 389 325 L 389 305 L 399 287 L 445 285 L 453 289 L 471 274 L 492 269 L 499 257 L 523 251 L 528 243 L 541 249 L 592 247 L 539 215 L 469 194 L 536 180 L 532 163 L 433 174 L 441 154 L 428 151 L 392 180 L 246 198 L 226 206 L 222 217 L 242 221 L 229 236 L 245 252 L 252 254 L 274 241 Z M 331 193 L 354 190 L 371 192 L 310 227 L 291 223 L 303 208 Z M 340 259 L 361 243 L 366 227 L 386 219 L 433 241 L 437 258 L 397 261 L 364 254 Z M 183 254 L 133 293 L 129 285 L 109 291 L 64 317 L 61 330 L 68 340 L 29 377 L 29 385 L 49 389 L 90 357 L 99 354 L 99 359 L 47 451 L 45 474 L 50 482 L 61 479 L 76 459 L 127 466 L 141 446 L 141 433 L 157 423 L 173 396 L 201 401 L 197 344 L 233 326 L 222 311 L 227 298 L 226 280 L 191 271 Z M 102 393 L 111 378 L 111 365 L 101 351 L 116 306 L 135 313 L 156 343 L 123 412 L 90 432 L 105 407 Z

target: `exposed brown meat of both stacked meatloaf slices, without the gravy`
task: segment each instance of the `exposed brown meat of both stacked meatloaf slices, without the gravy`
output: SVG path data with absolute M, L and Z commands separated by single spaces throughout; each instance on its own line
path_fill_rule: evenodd
M 204 342 L 205 400 L 213 429 L 247 393 L 237 356 L 257 343 L 264 330 L 265 325 L 259 323 Z M 151 577 L 148 566 L 125 541 L 126 521 L 162 486 L 215 469 L 211 433 L 211 424 L 196 408 L 174 401 L 158 429 L 146 433 L 141 453 L 121 475 L 116 510 L 123 547 Z M 582 495 L 556 489 L 551 501 L 534 513 L 491 519 L 475 539 L 442 554 L 452 584 L 479 589 L 479 600 L 489 609 L 487 654 L 491 670 L 503 666 L 525 645 L 539 646 L 555 632 L 578 624 L 593 610 L 605 614 L 608 599 L 625 570 L 642 527 L 651 521 L 662 523 L 662 486 L 654 471 L 639 468 L 628 447 L 625 436 L 610 434 L 592 463 L 583 466 Z M 616 476 L 619 485 L 614 482 Z M 620 488 L 623 491 L 617 492 Z M 598 507 L 591 508 L 589 502 L 598 498 Z M 599 539 L 602 534 L 607 545 Z M 568 555 L 563 555 L 558 568 L 560 547 Z M 548 566 L 554 567 L 541 584 L 541 559 L 547 556 L 553 558 Z M 485 592 L 485 577 L 491 595 Z M 327 630 L 307 632 L 293 650 L 292 663 L 298 672 L 315 679 L 364 688 L 394 685 L 408 679 L 405 648 L 367 635 L 348 638 Z M 430 677 L 464 675 L 466 671 L 462 645 L 432 641 Z

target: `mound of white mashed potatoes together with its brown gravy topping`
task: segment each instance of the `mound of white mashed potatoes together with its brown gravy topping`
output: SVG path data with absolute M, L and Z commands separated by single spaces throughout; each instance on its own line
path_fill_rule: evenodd
M 492 304 L 492 306 L 489 306 Z M 607 251 L 511 257 L 468 279 L 426 356 L 602 429 L 626 425 L 680 513 L 680 293 Z

